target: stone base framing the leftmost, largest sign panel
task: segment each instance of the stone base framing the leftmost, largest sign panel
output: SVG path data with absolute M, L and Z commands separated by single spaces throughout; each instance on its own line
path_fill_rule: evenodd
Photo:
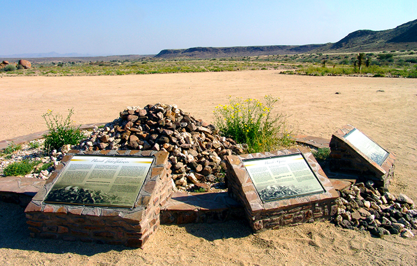
M 141 247 L 159 226 L 160 207 L 171 197 L 172 181 L 166 151 L 110 151 L 107 155 L 154 156 L 155 165 L 145 179 L 132 209 L 45 204 L 56 177 L 75 154 L 104 154 L 71 150 L 47 184 L 26 207 L 30 236 L 64 241 L 99 242 Z

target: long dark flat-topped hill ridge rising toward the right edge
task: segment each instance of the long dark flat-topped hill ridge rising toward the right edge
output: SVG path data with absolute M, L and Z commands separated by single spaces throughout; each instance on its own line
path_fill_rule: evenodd
M 387 30 L 357 30 L 337 43 L 311 45 L 274 45 L 246 47 L 195 47 L 188 49 L 165 49 L 155 57 L 219 58 L 235 56 L 260 56 L 296 53 L 366 52 L 384 50 L 417 49 L 417 20 Z

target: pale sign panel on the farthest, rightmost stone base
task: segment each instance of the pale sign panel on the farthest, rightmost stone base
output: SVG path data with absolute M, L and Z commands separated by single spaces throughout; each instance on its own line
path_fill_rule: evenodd
M 378 165 L 382 165 L 389 154 L 356 128 L 344 135 L 344 138 Z

